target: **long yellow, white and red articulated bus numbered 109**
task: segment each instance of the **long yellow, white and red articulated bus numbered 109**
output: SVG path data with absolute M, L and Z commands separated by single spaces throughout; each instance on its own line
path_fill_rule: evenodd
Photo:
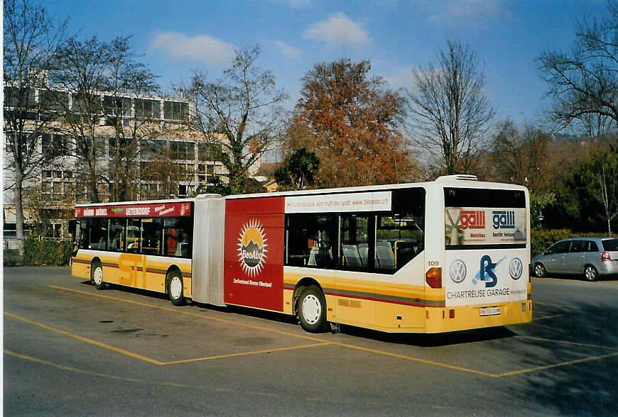
M 528 190 L 434 182 L 75 207 L 72 275 L 215 306 L 440 333 L 532 318 Z

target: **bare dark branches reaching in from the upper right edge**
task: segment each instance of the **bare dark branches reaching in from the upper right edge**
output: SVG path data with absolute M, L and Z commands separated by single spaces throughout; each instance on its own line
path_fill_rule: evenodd
M 558 129 L 581 121 L 603 133 L 605 118 L 612 119 L 612 128 L 618 122 L 618 2 L 608 1 L 607 9 L 607 18 L 578 23 L 570 50 L 546 50 L 538 57 Z

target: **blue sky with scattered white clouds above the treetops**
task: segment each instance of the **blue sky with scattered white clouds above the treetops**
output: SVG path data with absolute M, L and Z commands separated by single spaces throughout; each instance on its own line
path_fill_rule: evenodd
M 548 101 L 535 58 L 569 48 L 575 23 L 600 18 L 601 0 L 45 0 L 69 18 L 77 38 L 134 35 L 134 51 L 160 75 L 163 91 L 193 70 L 216 79 L 234 48 L 259 43 L 259 65 L 298 99 L 300 78 L 316 62 L 370 60 L 390 87 L 409 87 L 410 72 L 436 62 L 447 40 L 470 45 L 484 66 L 497 118 L 534 123 Z

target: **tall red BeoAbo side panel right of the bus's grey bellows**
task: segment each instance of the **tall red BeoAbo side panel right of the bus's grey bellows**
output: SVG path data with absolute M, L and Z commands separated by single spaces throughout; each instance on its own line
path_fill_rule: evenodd
M 224 302 L 283 311 L 283 197 L 225 201 Z

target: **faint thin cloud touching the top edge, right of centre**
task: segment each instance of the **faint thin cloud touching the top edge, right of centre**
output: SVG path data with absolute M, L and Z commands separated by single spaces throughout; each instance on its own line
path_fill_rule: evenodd
M 444 0 L 430 2 L 429 20 L 441 26 L 478 27 L 489 21 L 511 18 L 502 0 Z

